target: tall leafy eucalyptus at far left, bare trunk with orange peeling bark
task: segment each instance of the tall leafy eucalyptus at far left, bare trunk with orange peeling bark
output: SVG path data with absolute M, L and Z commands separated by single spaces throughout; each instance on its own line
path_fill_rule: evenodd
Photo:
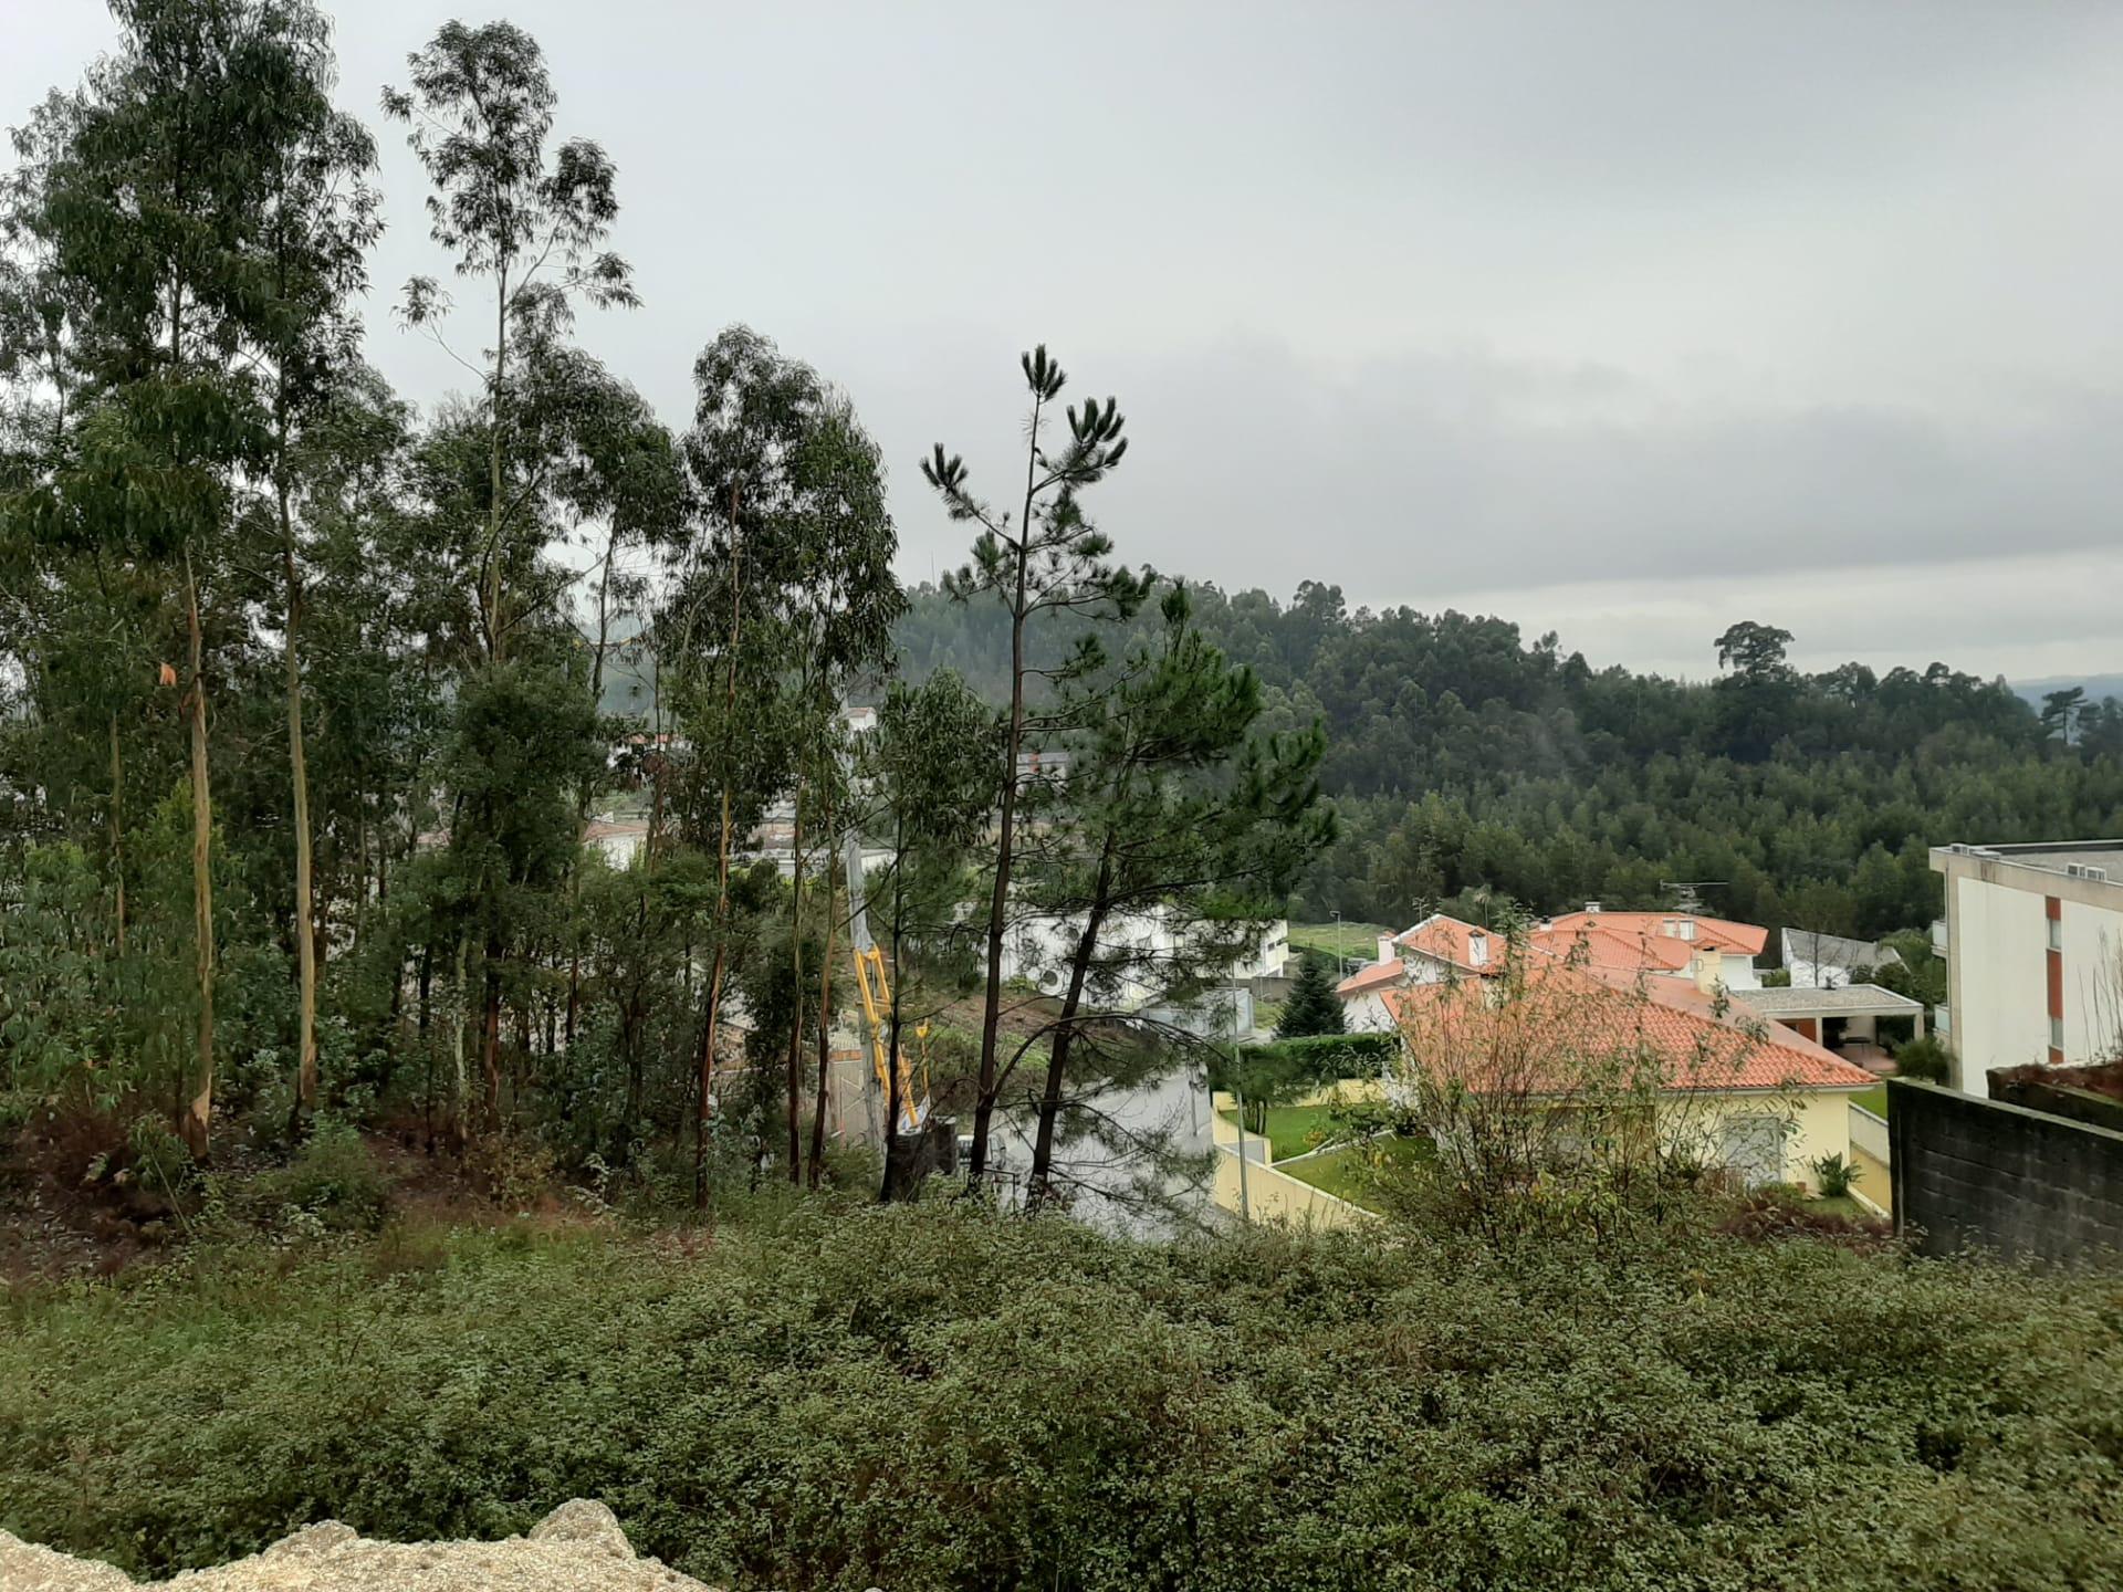
M 206 607 L 236 507 L 272 458 L 255 359 L 278 308 L 265 227 L 280 176 L 329 117 L 329 51 L 304 0 L 115 0 L 113 13 L 119 47 L 91 70 L 42 174 L 38 225 L 76 316 L 79 384 L 40 520 L 55 539 L 168 571 L 183 594 L 195 1059 L 180 1127 L 204 1153 L 214 1100 Z

